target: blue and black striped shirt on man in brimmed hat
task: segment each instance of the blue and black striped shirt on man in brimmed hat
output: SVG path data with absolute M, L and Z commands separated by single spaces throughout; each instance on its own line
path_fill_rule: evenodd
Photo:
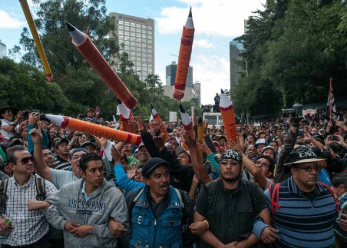
M 273 247 L 331 248 L 335 247 L 333 226 L 338 216 L 336 203 L 325 186 L 316 185 L 311 202 L 294 183 L 293 177 L 281 183 L 280 209 L 272 217 L 280 239 Z M 265 191 L 271 212 L 269 189 Z

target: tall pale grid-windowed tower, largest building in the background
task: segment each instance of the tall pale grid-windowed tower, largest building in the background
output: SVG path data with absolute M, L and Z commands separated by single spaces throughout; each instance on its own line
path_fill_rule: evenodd
M 115 34 L 118 38 L 120 52 L 126 52 L 134 63 L 134 71 L 140 80 L 149 74 L 155 74 L 154 67 L 154 20 L 136 16 L 110 13 L 116 18 Z

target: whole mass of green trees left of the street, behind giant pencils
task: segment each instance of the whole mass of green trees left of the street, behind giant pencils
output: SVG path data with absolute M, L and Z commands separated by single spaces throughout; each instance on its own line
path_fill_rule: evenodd
M 114 65 L 119 62 L 117 74 L 138 100 L 134 115 L 148 119 L 151 104 L 162 119 L 169 119 L 169 111 L 178 111 L 178 102 L 164 96 L 158 75 L 149 75 L 140 81 L 133 70 L 133 62 L 126 53 L 119 54 L 115 34 L 115 20 L 106 13 L 105 0 L 33 0 L 38 19 L 35 24 L 50 63 L 54 82 L 47 82 L 42 64 L 31 38 L 23 28 L 20 46 L 10 51 L 11 60 L 1 61 L 0 103 L 19 109 L 39 109 L 75 117 L 87 108 L 100 106 L 101 116 L 111 119 L 116 113 L 117 98 L 98 74 L 72 45 L 65 20 L 86 32 L 105 59 Z M 36 69 L 39 68 L 41 71 Z M 192 103 L 184 103 L 188 109 Z M 197 107 L 197 113 L 199 108 Z M 201 110 L 200 110 L 201 111 Z

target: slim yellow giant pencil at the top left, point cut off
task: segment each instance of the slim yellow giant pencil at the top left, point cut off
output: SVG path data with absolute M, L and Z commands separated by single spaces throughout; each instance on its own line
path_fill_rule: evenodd
M 26 0 L 19 0 L 19 2 L 20 2 L 20 5 L 22 6 L 26 21 L 29 25 L 31 35 L 33 36 L 33 39 L 34 39 L 34 42 L 36 45 L 36 49 L 37 49 L 37 53 L 39 54 L 40 60 L 42 62 L 44 70 L 45 70 L 46 78 L 48 81 L 53 81 L 52 71 L 51 71 L 50 65 L 47 61 L 47 57 L 46 57 L 45 51 L 43 49 L 39 34 L 37 33 L 37 29 L 36 29 L 35 23 L 33 21 L 33 17 L 31 16 L 28 3 Z

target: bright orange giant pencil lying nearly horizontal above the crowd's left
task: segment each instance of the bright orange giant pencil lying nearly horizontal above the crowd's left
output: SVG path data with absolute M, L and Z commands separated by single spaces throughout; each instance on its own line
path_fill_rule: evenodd
M 46 115 L 46 117 L 57 125 L 60 125 L 62 128 L 67 127 L 74 131 L 85 132 L 95 136 L 131 143 L 134 145 L 139 145 L 141 143 L 141 136 L 137 134 L 80 121 L 66 116 Z

